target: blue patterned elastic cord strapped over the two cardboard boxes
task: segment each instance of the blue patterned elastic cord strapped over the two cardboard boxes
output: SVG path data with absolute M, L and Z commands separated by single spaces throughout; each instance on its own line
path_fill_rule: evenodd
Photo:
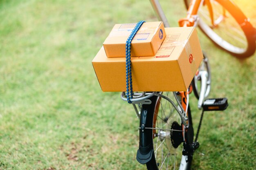
M 132 103 L 130 99 L 132 99 L 132 67 L 131 67 L 131 42 L 136 33 L 139 31 L 141 25 L 146 21 L 139 21 L 137 25 L 132 30 L 126 41 L 126 96 L 127 102 Z M 130 86 L 129 86 L 130 85 Z

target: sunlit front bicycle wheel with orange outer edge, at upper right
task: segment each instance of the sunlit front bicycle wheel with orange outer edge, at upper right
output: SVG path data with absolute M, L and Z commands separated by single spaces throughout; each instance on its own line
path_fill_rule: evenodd
M 192 0 L 184 0 L 186 8 Z M 217 46 L 238 58 L 249 57 L 256 49 L 256 31 L 243 12 L 226 0 L 204 1 L 198 10 L 198 25 Z M 210 6 L 210 7 L 209 7 Z M 210 15 L 212 8 L 212 17 Z

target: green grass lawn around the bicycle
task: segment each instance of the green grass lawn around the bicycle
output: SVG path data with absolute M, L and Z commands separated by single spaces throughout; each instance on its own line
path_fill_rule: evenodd
M 170 2 L 164 9 L 177 26 L 186 11 Z M 256 26 L 256 2 L 236 2 Z M 0 0 L 0 170 L 146 169 L 136 161 L 132 106 L 101 91 L 91 64 L 115 23 L 139 20 L 157 20 L 148 1 Z M 227 97 L 229 108 L 204 115 L 192 169 L 253 170 L 256 55 L 237 60 L 198 32 L 210 97 Z

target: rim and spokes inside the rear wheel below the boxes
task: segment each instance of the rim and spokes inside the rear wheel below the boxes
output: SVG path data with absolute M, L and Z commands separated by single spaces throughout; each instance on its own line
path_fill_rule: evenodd
M 174 101 L 172 92 L 165 92 L 163 95 Z M 178 124 L 181 129 L 172 127 L 174 124 L 176 126 Z M 157 99 L 153 128 L 159 128 L 153 130 L 154 156 L 159 170 L 179 169 L 182 160 L 183 136 L 182 132 L 174 130 L 182 131 L 181 119 L 173 106 L 167 100 L 161 99 L 160 97 Z M 176 132 L 175 136 L 173 132 Z M 180 137 L 182 141 L 172 141 L 172 139 L 177 139 L 177 137 Z M 177 148 L 174 148 L 172 142 L 176 142 L 175 144 L 178 145 L 176 146 Z M 183 163 L 186 166 L 186 162 Z

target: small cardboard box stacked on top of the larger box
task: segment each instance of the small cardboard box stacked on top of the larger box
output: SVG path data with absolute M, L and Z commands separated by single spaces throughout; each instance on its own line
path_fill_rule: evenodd
M 115 24 L 103 43 L 107 57 L 126 57 L 126 40 L 136 24 Z M 154 56 L 165 35 L 163 22 L 144 22 L 131 42 L 131 56 Z

